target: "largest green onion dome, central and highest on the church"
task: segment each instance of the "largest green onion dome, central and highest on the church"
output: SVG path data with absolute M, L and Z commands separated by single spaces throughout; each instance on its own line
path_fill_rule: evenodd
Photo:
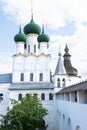
M 33 19 L 30 21 L 29 24 L 27 24 L 25 27 L 24 27 L 24 33 L 27 35 L 27 34 L 30 34 L 30 33 L 34 33 L 34 34 L 40 34 L 41 32 L 41 29 L 40 27 L 33 21 Z

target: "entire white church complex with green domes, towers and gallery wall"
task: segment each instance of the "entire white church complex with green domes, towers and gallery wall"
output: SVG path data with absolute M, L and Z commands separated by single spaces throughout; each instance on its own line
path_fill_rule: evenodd
M 44 26 L 41 29 L 32 15 L 23 31 L 20 26 L 14 37 L 12 73 L 0 74 L 0 114 L 11 107 L 10 99 L 20 101 L 32 93 L 48 109 L 47 130 L 87 130 L 87 81 L 78 82 L 81 77 L 71 64 L 68 45 L 63 56 L 59 52 L 52 75 Z

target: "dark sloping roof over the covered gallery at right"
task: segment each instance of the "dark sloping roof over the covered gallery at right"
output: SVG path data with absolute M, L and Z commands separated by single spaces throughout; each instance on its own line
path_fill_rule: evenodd
M 74 92 L 74 91 L 84 91 L 87 90 L 87 81 L 66 87 L 59 91 L 58 93 L 69 93 L 69 92 Z

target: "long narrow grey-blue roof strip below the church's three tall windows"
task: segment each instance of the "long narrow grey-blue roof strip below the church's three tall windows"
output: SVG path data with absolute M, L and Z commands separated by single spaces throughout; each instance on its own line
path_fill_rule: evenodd
M 53 89 L 52 83 L 12 83 L 9 90 L 40 90 L 40 89 Z

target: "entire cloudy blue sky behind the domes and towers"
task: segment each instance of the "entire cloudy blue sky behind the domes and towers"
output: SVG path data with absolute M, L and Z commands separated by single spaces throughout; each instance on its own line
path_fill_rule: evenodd
M 78 75 L 87 76 L 87 0 L 33 0 L 34 21 L 44 23 L 50 37 L 51 69 L 54 72 L 67 43 Z M 16 53 L 14 36 L 31 19 L 31 0 L 0 0 L 0 73 L 12 72 Z

